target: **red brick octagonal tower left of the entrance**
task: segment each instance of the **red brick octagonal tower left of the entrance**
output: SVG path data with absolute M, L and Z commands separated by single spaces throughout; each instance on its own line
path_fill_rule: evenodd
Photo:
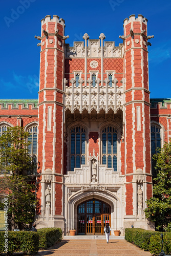
M 41 221 L 63 227 L 63 43 L 65 21 L 54 15 L 41 20 L 40 88 L 38 101 L 38 196 Z M 50 197 L 47 197 L 48 185 Z M 50 223 L 51 222 L 51 223 Z

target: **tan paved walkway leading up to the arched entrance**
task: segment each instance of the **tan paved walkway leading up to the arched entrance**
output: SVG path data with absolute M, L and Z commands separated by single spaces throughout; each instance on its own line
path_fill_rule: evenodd
M 106 241 L 92 240 L 62 240 L 56 245 L 44 251 L 39 251 L 36 256 L 44 255 L 70 255 L 70 256 L 150 256 L 151 253 L 141 250 L 125 240 L 110 239 L 109 244 Z

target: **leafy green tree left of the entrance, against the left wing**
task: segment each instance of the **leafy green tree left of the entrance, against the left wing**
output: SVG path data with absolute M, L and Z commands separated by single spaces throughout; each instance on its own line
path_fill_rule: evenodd
M 28 154 L 29 133 L 22 127 L 10 127 L 0 137 L 0 194 L 8 195 L 8 220 L 12 229 L 24 228 L 34 221 L 36 195 L 33 157 Z M 1 205 L 2 207 L 2 205 Z

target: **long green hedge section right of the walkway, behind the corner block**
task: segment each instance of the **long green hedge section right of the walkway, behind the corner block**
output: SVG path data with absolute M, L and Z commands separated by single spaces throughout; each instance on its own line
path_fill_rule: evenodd
M 125 240 L 148 251 L 151 237 L 157 234 L 160 236 L 160 233 L 161 232 L 144 230 L 142 228 L 125 228 Z

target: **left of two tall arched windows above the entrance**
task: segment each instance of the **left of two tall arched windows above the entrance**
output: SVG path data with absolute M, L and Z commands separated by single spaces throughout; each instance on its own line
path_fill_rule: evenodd
M 77 125 L 71 129 L 71 171 L 86 163 L 86 129 Z

